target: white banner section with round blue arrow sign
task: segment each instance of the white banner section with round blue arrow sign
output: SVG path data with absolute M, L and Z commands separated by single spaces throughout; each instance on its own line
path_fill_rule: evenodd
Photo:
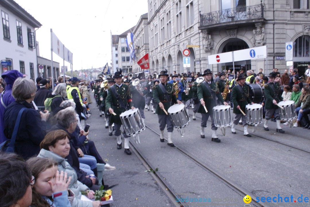
M 234 61 L 254 60 L 267 57 L 267 46 L 252 47 L 244 50 L 236 50 L 233 52 Z

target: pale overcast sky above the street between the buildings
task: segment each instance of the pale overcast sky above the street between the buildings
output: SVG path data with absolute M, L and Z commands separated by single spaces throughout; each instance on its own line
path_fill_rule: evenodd
M 147 0 L 15 0 L 43 26 L 36 31 L 40 56 L 51 59 L 51 33 L 73 53 L 73 70 L 111 63 L 111 36 L 135 26 Z M 53 60 L 63 65 L 55 53 Z M 65 61 L 70 68 L 70 64 Z

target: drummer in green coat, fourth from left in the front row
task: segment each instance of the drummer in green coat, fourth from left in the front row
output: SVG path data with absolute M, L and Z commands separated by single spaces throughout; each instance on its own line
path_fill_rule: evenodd
M 232 122 L 232 133 L 236 134 L 236 126 L 239 120 L 242 120 L 243 125 L 243 135 L 247 137 L 252 137 L 248 133 L 248 125 L 246 124 L 246 116 L 242 114 L 240 110 L 246 113 L 246 105 L 253 104 L 249 97 L 249 87 L 245 86 L 246 77 L 241 74 L 237 77 L 238 84 L 232 88 L 232 103 L 233 103 L 233 113 L 236 114 Z

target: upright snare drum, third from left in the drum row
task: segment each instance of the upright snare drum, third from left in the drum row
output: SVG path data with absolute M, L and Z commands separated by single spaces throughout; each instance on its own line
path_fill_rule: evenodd
M 230 106 L 220 105 L 213 107 L 213 117 L 216 127 L 228 127 L 232 125 Z

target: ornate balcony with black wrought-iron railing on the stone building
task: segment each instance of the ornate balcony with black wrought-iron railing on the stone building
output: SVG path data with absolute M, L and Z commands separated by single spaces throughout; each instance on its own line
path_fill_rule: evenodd
M 200 13 L 199 29 L 214 30 L 229 25 L 247 25 L 264 21 L 264 6 L 262 1 L 259 5 L 237 7 L 214 11 L 207 14 Z

